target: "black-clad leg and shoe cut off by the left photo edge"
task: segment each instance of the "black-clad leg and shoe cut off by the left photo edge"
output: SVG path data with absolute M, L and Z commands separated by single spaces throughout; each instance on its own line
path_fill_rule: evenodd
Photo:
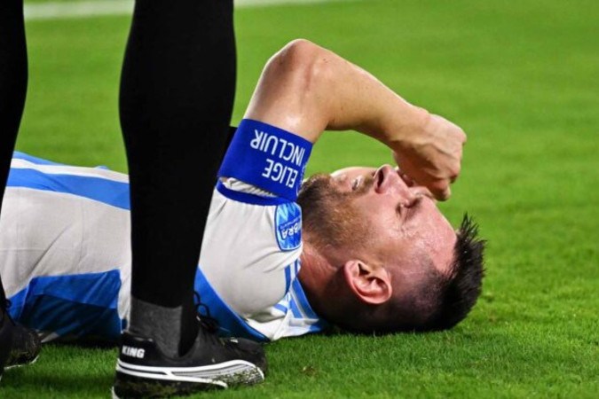
M 0 2 L 0 209 L 25 106 L 27 81 L 23 1 L 3 0 Z M 0 278 L 0 377 L 4 366 L 31 363 L 40 350 L 35 333 L 15 325 L 7 308 Z

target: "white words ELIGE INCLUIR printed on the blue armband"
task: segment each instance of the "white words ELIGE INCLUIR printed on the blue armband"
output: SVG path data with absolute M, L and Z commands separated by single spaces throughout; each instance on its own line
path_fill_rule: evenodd
M 303 154 L 305 153 L 303 147 L 257 129 L 254 129 L 254 134 L 255 137 L 249 143 L 253 149 L 263 153 L 270 153 L 280 160 L 292 162 L 299 168 L 302 167 Z M 299 170 L 296 168 L 288 167 L 270 158 L 266 159 L 266 166 L 262 173 L 263 177 L 279 184 L 285 184 L 289 188 L 293 188 L 296 185 L 298 175 Z

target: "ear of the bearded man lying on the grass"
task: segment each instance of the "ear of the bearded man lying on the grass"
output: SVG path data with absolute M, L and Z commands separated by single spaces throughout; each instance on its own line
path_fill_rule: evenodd
M 343 265 L 343 273 L 347 285 L 360 301 L 372 305 L 389 301 L 393 288 L 390 275 L 385 268 L 351 260 Z

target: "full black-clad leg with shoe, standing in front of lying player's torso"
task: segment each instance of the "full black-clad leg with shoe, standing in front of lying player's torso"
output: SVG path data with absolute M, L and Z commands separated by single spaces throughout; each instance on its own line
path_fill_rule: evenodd
M 117 395 L 147 387 L 146 380 L 131 378 L 147 361 L 123 348 L 143 348 L 145 355 L 160 350 L 175 359 L 194 358 L 190 352 L 203 346 L 223 348 L 216 355 L 220 362 L 235 357 L 264 362 L 261 347 L 239 348 L 232 341 L 223 346 L 203 331 L 193 307 L 201 240 L 233 111 L 235 63 L 233 0 L 137 0 L 120 95 L 130 173 L 132 277 Z M 145 347 L 150 344 L 144 338 L 156 348 Z M 185 367 L 203 365 L 197 356 L 193 362 Z M 160 369 L 161 363 L 152 365 Z M 222 381 L 205 384 L 215 385 L 223 386 Z

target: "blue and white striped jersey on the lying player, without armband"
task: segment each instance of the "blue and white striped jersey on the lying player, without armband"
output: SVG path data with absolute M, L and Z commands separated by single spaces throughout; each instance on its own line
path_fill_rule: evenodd
M 45 341 L 117 339 L 130 306 L 129 207 L 126 175 L 14 153 L 0 219 L 12 317 Z M 295 202 L 222 179 L 206 229 L 195 289 L 223 334 L 268 341 L 326 327 L 296 278 Z

